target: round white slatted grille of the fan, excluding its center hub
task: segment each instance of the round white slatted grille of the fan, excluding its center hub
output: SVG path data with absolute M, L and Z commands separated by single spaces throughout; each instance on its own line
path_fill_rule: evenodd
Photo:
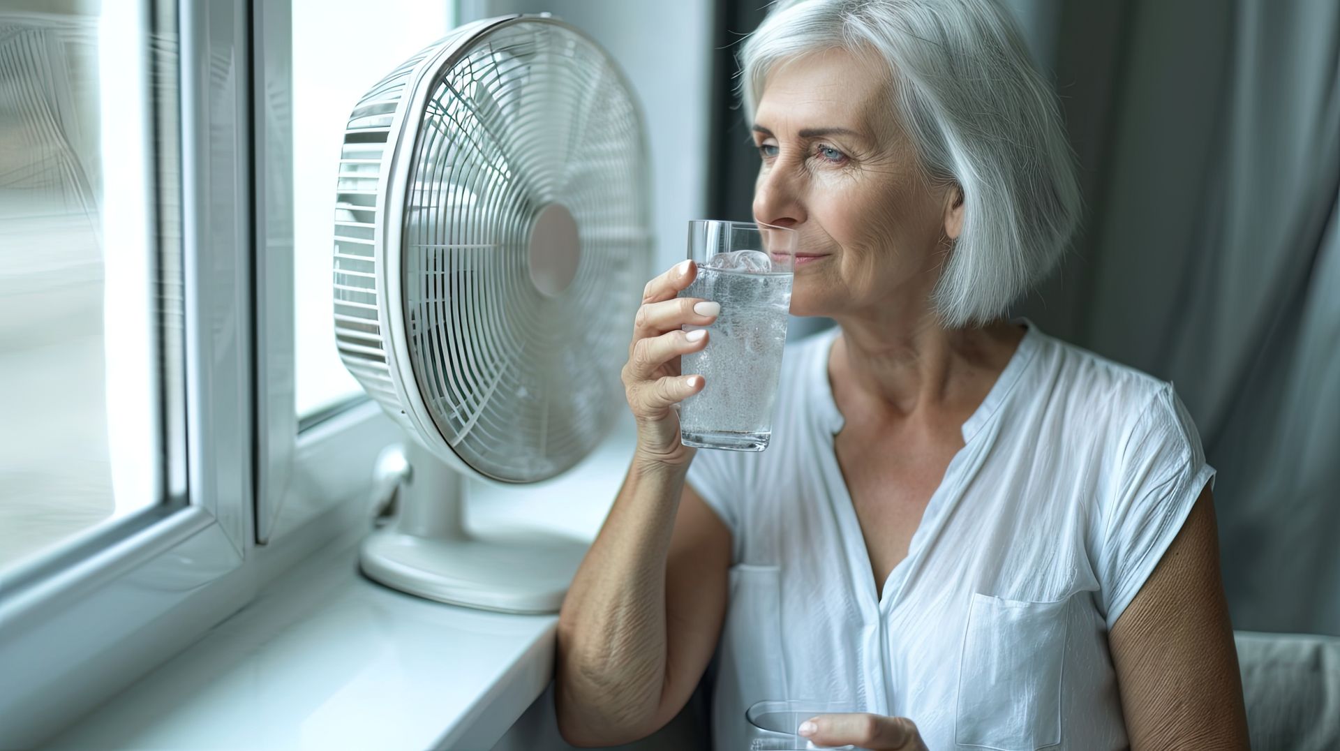
M 379 86 L 385 94 L 374 89 L 359 103 L 351 131 L 355 121 L 367 123 L 362 133 L 390 131 L 387 102 L 409 78 L 395 75 Z M 346 138 L 340 351 L 393 414 L 406 409 L 385 357 L 374 268 L 377 223 L 399 221 L 401 247 L 386 252 L 402 253 L 401 295 L 385 302 L 403 306 L 414 376 L 403 393 L 422 400 L 445 447 L 478 472 L 548 479 L 590 453 L 623 409 L 619 366 L 651 260 L 636 105 L 599 47 L 547 19 L 492 27 L 418 75 L 431 79 L 422 110 L 406 114 L 414 143 L 401 157 L 398 216 L 375 215 L 375 142 Z M 576 224 L 580 245 L 571 283 L 556 294 L 541 292 L 528 271 L 536 217 L 555 207 Z

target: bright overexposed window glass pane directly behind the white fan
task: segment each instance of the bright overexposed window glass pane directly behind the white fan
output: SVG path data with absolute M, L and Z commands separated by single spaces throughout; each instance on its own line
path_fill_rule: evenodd
M 331 321 L 335 174 L 358 99 L 452 30 L 450 0 L 293 0 L 293 321 L 299 418 L 362 389 Z

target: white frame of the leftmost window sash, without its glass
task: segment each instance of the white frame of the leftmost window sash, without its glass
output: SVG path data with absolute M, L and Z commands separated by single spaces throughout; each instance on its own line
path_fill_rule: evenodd
M 255 445 L 249 135 L 240 117 L 249 113 L 248 7 L 245 0 L 135 5 L 141 28 L 157 36 L 176 21 L 180 40 L 177 106 L 159 99 L 145 115 L 155 130 L 146 139 L 161 149 L 146 165 L 157 178 L 150 178 L 155 216 L 146 217 L 145 252 L 168 271 L 151 287 L 162 333 L 165 498 L 146 499 L 146 511 L 71 540 L 59 558 L 7 571 L 0 587 L 7 747 L 40 744 L 256 591 L 255 573 L 244 566 L 252 550 Z M 147 35 L 142 42 L 158 48 Z M 155 55 L 147 66 L 161 60 Z M 151 102 L 149 76 L 139 84 Z M 178 219 L 180 236 L 159 233 Z

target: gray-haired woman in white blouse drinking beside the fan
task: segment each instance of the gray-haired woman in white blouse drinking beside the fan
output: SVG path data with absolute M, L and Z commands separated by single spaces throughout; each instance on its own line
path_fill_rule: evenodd
M 713 736 L 760 700 L 863 748 L 1245 748 L 1206 465 L 1170 384 L 1004 318 L 1080 198 L 1056 98 L 986 0 L 781 3 L 744 47 L 754 219 L 816 257 L 772 445 L 679 443 L 706 388 L 679 264 L 634 322 L 639 444 L 559 624 L 579 746 L 646 736 L 718 656 Z M 695 331 L 694 334 L 701 334 Z

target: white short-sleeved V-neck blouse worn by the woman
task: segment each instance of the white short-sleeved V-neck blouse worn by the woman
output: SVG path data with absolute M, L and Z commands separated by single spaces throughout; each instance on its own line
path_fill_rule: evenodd
M 733 536 L 717 751 L 766 699 L 910 717 L 937 751 L 1128 746 L 1107 634 L 1214 469 L 1171 384 L 1017 323 L 882 597 L 833 452 L 838 327 L 787 347 L 766 451 L 698 451 Z

